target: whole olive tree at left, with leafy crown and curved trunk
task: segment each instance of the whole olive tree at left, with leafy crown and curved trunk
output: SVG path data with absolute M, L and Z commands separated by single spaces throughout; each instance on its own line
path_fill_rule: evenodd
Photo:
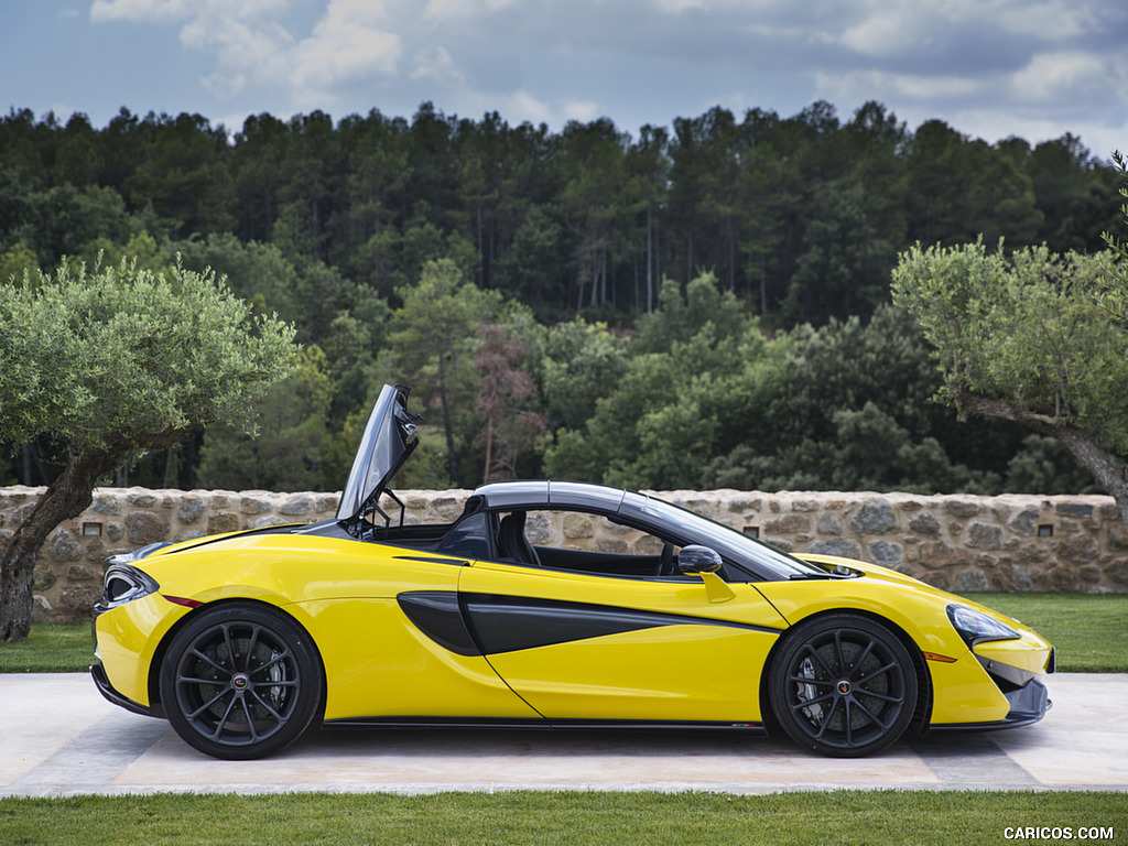
M 54 444 L 62 472 L 0 540 L 0 640 L 27 636 L 36 555 L 108 473 L 211 423 L 253 426 L 287 374 L 293 328 L 210 271 L 158 275 L 67 259 L 0 281 L 0 442 Z

